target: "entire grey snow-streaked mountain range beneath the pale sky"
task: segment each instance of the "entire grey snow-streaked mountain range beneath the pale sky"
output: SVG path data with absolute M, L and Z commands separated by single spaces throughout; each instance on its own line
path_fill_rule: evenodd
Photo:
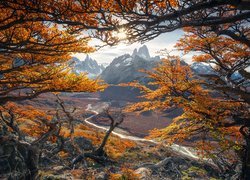
M 110 64 L 98 64 L 89 55 L 84 61 L 73 57 L 71 62 L 73 62 L 73 72 L 77 74 L 87 72 L 90 78 L 100 76 L 108 84 L 119 84 L 134 80 L 148 82 L 145 74 L 139 70 L 152 69 L 160 62 L 160 56 L 151 57 L 148 47 L 143 45 L 139 49 L 134 49 L 132 54 L 116 57 Z M 186 64 L 184 61 L 183 63 Z M 213 69 L 204 63 L 193 63 L 191 68 L 196 74 L 213 73 Z

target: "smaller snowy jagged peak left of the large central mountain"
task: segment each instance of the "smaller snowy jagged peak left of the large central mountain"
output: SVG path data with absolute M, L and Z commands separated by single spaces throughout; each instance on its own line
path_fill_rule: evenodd
M 96 60 L 86 56 L 84 61 L 80 61 L 78 58 L 73 57 L 73 71 L 77 74 L 87 72 L 89 77 L 95 77 L 102 73 L 105 69 L 103 65 L 99 65 Z

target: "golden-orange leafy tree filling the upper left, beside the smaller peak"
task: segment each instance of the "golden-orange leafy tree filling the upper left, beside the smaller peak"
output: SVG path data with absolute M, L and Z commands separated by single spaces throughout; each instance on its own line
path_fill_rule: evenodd
M 3 9 L 5 10 L 5 9 Z M 1 17 L 8 19 L 8 13 Z M 0 31 L 1 104 L 44 92 L 97 91 L 99 81 L 70 73 L 71 53 L 90 52 L 88 38 L 46 22 L 25 22 Z M 23 90 L 23 91 L 21 91 Z

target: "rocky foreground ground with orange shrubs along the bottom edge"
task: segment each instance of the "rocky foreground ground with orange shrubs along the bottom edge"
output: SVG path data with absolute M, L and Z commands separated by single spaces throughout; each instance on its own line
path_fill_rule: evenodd
M 108 166 L 88 162 L 76 169 L 55 164 L 43 167 L 39 179 L 219 179 L 219 170 L 211 164 L 176 154 L 161 145 L 139 143 Z

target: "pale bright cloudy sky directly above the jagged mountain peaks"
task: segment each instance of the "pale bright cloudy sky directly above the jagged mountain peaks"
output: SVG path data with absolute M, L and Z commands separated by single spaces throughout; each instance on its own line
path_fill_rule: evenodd
M 165 33 L 157 38 L 146 42 L 145 44 L 147 45 L 149 49 L 150 56 L 156 56 L 159 55 L 157 54 L 157 51 L 161 49 L 167 49 L 168 51 L 174 50 L 174 45 L 177 42 L 177 40 L 183 35 L 183 31 L 181 30 L 176 30 L 171 33 Z M 98 44 L 97 40 L 92 40 L 90 45 L 92 44 Z M 95 59 L 98 63 L 110 63 L 112 60 L 118 56 L 121 56 L 125 53 L 132 54 L 133 50 L 135 48 L 140 48 L 143 44 L 140 43 L 134 43 L 130 45 L 126 45 L 124 43 L 120 43 L 117 46 L 106 46 L 104 48 L 99 49 L 98 51 L 94 53 L 90 53 L 90 57 Z M 180 54 L 178 51 L 173 51 L 173 54 Z M 86 54 L 83 53 L 78 53 L 74 55 L 75 57 L 79 58 L 80 60 L 84 60 L 86 57 Z M 185 59 L 189 60 L 190 56 L 185 56 Z

